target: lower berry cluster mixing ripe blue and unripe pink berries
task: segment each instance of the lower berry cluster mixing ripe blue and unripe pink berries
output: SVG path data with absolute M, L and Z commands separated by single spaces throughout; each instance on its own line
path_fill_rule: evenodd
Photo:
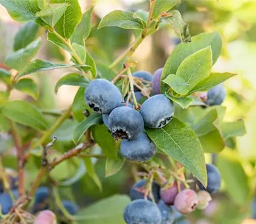
M 148 181 L 136 182 L 130 191 L 131 204 L 124 210 L 124 220 L 128 224 L 172 224 L 177 219 L 177 213 L 188 214 L 195 209 L 205 209 L 211 201 L 212 193 L 220 189 L 221 177 L 218 169 L 207 164 L 208 184 L 204 188 L 198 182 L 197 193 L 193 189 L 184 189 L 177 181 L 172 184 L 162 184 L 160 187 L 152 182 L 148 193 Z M 180 191 L 179 191 L 180 189 Z M 145 197 L 146 196 L 146 197 Z M 176 212 L 175 212 L 176 211 Z

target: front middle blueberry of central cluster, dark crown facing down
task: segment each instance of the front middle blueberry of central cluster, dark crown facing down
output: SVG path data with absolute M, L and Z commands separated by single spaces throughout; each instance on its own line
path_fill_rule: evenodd
M 140 113 L 127 106 L 113 109 L 109 115 L 108 125 L 116 140 L 138 138 L 144 129 L 144 122 Z

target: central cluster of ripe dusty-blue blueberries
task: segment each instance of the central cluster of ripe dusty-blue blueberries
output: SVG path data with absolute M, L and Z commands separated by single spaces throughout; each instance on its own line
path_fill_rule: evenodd
M 152 81 L 148 72 L 135 72 L 134 77 L 143 81 Z M 134 86 L 135 94 L 141 92 Z M 147 161 L 156 154 L 157 147 L 144 132 L 144 126 L 159 129 L 168 124 L 174 114 L 174 106 L 165 95 L 149 97 L 141 105 L 140 111 L 132 104 L 125 106 L 118 88 L 106 79 L 95 79 L 88 84 L 84 92 L 88 106 L 102 114 L 102 120 L 116 140 L 121 143 L 122 155 L 131 161 Z

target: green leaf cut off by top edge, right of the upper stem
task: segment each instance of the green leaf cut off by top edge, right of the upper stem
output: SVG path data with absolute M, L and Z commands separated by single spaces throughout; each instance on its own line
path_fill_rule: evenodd
M 171 10 L 179 2 L 179 0 L 156 0 L 152 12 L 152 18 L 157 19 L 158 17 L 161 17 L 162 13 Z

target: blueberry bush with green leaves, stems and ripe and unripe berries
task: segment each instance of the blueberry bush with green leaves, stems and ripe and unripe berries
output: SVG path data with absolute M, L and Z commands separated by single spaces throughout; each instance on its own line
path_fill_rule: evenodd
M 221 35 L 191 35 L 179 0 L 149 0 L 101 19 L 93 6 L 82 14 L 77 0 L 0 3 L 24 22 L 0 68 L 1 223 L 196 223 L 221 197 L 223 180 L 236 186 L 230 173 L 248 181 L 240 161 L 218 157 L 245 133 L 243 120 L 226 122 L 221 106 L 222 83 L 237 74 L 212 72 L 225 49 Z M 177 35 L 175 48 L 153 74 L 138 70 L 134 52 L 163 29 Z M 45 36 L 68 62 L 37 58 Z M 127 49 L 116 56 L 120 39 Z M 33 76 L 44 82 L 61 68 L 72 72 L 54 92 L 78 86 L 76 96 L 65 110 L 45 109 Z M 13 90 L 28 100 L 10 99 Z

